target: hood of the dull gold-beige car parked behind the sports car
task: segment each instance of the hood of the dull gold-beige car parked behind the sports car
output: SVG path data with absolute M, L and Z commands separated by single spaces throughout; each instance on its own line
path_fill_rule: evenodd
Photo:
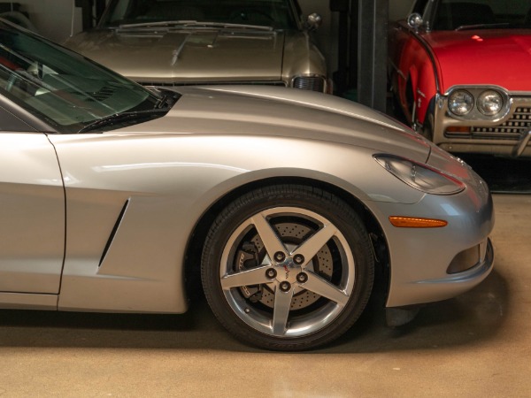
M 264 29 L 127 28 L 78 34 L 65 46 L 146 84 L 280 81 L 285 34 Z

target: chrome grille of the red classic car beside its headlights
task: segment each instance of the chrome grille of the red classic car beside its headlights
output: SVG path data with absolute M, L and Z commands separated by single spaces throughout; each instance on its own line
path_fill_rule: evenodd
M 519 140 L 519 137 L 531 128 L 531 107 L 519 106 L 511 118 L 498 126 L 472 127 L 474 138 L 496 138 Z

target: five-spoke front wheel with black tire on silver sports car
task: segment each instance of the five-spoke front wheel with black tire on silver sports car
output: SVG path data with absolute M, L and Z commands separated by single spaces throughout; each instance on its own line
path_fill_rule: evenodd
M 304 186 L 257 189 L 208 234 L 202 279 L 212 311 L 262 348 L 317 347 L 347 331 L 373 287 L 373 252 L 358 215 Z

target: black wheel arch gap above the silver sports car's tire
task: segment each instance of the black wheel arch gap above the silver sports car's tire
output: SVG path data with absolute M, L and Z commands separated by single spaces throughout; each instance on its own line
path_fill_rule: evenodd
M 191 239 L 185 251 L 184 272 L 185 272 L 185 288 L 189 297 L 195 297 L 203 294 L 203 287 L 201 286 L 200 278 L 200 264 L 201 255 L 209 232 L 215 218 L 219 212 L 223 210 L 228 203 L 234 201 L 237 197 L 244 195 L 255 188 L 264 188 L 273 185 L 304 185 L 312 188 L 319 188 L 330 194 L 333 194 L 345 203 L 348 203 L 354 209 L 358 216 L 362 219 L 369 233 L 370 241 L 373 248 L 373 255 L 375 259 L 375 278 L 383 283 L 386 287 L 386 296 L 389 290 L 389 245 L 381 228 L 380 222 L 373 215 L 373 212 L 366 208 L 366 206 L 350 192 L 340 188 L 334 184 L 330 184 L 321 180 L 314 180 L 306 177 L 273 177 L 263 180 L 254 180 L 235 188 L 219 198 L 218 201 L 206 210 L 203 216 L 197 221 L 196 226 L 191 234 Z M 386 297 L 387 298 L 387 297 Z

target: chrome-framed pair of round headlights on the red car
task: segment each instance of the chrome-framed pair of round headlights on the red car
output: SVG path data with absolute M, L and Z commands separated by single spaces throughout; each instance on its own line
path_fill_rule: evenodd
M 454 86 L 445 97 L 452 119 L 497 121 L 511 110 L 509 93 L 498 86 Z

